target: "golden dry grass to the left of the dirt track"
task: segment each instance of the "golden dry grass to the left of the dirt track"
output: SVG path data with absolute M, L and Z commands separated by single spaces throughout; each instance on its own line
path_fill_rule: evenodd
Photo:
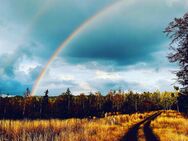
M 116 141 L 132 125 L 151 114 L 153 112 L 93 120 L 1 120 L 0 141 Z

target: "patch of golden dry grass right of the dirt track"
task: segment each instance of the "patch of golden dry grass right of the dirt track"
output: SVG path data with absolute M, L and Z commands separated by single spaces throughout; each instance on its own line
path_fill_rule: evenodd
M 161 141 L 188 141 L 188 119 L 176 111 L 164 111 L 151 126 Z

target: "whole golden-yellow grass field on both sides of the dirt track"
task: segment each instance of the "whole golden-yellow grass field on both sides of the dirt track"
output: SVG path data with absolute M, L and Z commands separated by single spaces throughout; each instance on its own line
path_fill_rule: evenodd
M 140 131 L 145 125 L 142 121 L 155 113 L 92 120 L 1 120 L 0 141 L 118 141 L 137 123 L 140 123 L 137 138 L 142 141 L 146 140 Z M 188 119 L 178 112 L 162 111 L 150 126 L 161 141 L 188 141 Z

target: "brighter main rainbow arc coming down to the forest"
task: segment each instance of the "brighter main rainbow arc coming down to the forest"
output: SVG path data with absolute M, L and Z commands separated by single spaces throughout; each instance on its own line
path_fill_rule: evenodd
M 72 32 L 72 34 L 70 34 L 68 36 L 68 38 L 57 48 L 57 50 L 55 50 L 55 52 L 53 53 L 53 55 L 51 56 L 51 58 L 49 59 L 49 61 L 46 63 L 46 65 L 43 67 L 42 71 L 40 72 L 38 78 L 35 80 L 32 91 L 31 91 L 31 95 L 35 95 L 38 86 L 41 82 L 41 80 L 43 79 L 43 77 L 45 76 L 49 66 L 52 64 L 52 62 L 54 61 L 54 59 L 59 55 L 59 53 L 62 51 L 62 49 L 64 47 L 66 47 L 76 36 L 78 36 L 79 33 L 81 33 L 82 31 L 84 31 L 84 29 L 86 29 L 95 19 L 105 15 L 106 13 L 108 13 L 109 11 L 111 11 L 114 7 L 116 7 L 117 5 L 121 4 L 121 2 L 124 0 L 118 0 L 110 5 L 108 5 L 107 7 L 105 7 L 104 9 L 102 9 L 101 11 L 97 12 L 94 16 L 90 17 L 89 19 L 87 19 L 83 24 L 81 24 L 74 32 Z M 126 1 L 128 2 L 128 1 Z

